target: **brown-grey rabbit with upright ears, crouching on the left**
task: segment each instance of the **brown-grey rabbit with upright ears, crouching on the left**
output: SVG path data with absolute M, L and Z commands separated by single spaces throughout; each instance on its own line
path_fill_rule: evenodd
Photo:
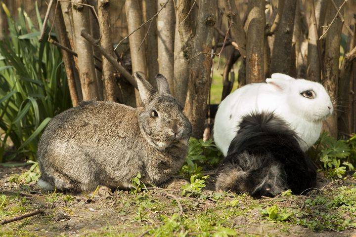
M 179 171 L 191 124 L 163 75 L 156 76 L 158 92 L 139 73 L 134 78 L 144 108 L 84 101 L 49 122 L 38 148 L 41 188 L 128 190 L 138 173 L 162 187 Z

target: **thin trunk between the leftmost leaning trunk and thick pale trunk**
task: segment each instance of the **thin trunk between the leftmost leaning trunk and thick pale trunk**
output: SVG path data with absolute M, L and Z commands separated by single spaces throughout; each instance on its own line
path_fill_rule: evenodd
M 75 43 L 75 33 L 74 33 L 74 26 L 73 26 L 73 14 L 72 14 L 72 3 L 66 1 L 60 1 L 62 15 L 64 19 L 65 28 L 67 31 L 67 37 L 70 43 L 70 47 L 73 51 L 76 51 L 76 43 Z M 78 73 L 78 59 L 77 57 L 73 58 L 73 72 L 74 72 L 74 79 L 76 85 L 76 91 L 79 98 L 79 101 L 83 100 L 83 93 L 82 93 L 82 85 L 79 79 Z

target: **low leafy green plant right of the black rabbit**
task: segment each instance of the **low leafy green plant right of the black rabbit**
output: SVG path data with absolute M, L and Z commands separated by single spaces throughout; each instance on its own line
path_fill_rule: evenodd
M 356 135 L 349 140 L 337 140 L 323 132 L 313 154 L 328 177 L 342 178 L 347 170 L 355 170 Z

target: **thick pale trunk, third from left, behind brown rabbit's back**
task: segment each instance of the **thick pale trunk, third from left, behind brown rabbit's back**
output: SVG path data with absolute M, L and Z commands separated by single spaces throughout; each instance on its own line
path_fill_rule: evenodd
M 78 53 L 78 71 L 82 85 L 83 99 L 96 100 L 98 99 L 98 89 L 92 47 L 87 40 L 81 37 L 82 30 L 90 29 L 89 9 L 88 7 L 75 3 L 84 2 L 83 0 L 73 0 L 72 5 L 76 51 Z

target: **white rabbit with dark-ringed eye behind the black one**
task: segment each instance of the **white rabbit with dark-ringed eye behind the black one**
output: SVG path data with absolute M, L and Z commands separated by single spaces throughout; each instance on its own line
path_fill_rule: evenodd
M 227 155 L 242 116 L 253 111 L 274 112 L 287 121 L 307 151 L 319 138 L 322 121 L 333 112 L 330 96 L 317 82 L 274 73 L 267 83 L 245 85 L 219 105 L 213 129 L 216 145 Z

